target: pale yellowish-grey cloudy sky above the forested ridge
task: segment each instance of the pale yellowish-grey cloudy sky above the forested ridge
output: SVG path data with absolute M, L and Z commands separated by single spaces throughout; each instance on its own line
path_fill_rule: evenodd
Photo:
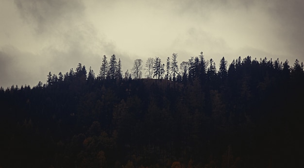
M 219 65 L 304 61 L 304 0 L 0 0 L 0 86 L 34 86 L 81 63 L 97 75 L 115 54 L 135 59 L 203 51 Z

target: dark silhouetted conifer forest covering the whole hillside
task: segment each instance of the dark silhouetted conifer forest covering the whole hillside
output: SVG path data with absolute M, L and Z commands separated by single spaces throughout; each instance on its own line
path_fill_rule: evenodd
M 0 88 L 0 168 L 303 167 L 298 60 L 203 52 L 134 61 L 103 56 L 47 83 Z M 144 73 L 143 73 L 144 72 Z

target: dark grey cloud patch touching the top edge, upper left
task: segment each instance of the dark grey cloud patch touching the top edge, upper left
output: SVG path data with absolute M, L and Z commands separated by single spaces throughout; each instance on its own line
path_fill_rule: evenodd
M 15 0 L 15 4 L 20 16 L 39 34 L 71 24 L 83 17 L 85 9 L 80 0 Z

